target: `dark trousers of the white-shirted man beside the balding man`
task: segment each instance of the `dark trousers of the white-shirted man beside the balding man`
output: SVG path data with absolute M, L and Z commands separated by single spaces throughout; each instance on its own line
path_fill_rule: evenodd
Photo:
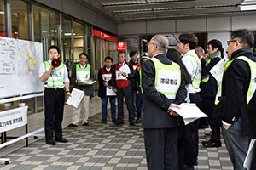
M 190 103 L 195 103 L 201 109 L 201 99 L 199 93 L 189 94 Z M 190 122 L 185 126 L 185 137 L 183 139 L 184 147 L 184 165 L 197 165 L 198 156 L 198 120 Z

